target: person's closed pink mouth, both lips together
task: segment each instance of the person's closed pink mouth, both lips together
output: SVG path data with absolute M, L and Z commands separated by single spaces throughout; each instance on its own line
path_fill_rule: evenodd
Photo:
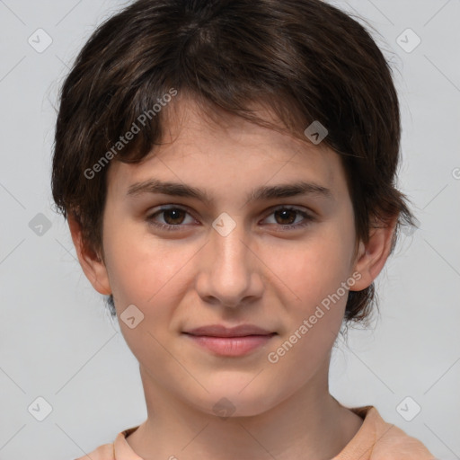
M 220 324 L 199 327 L 183 334 L 202 349 L 218 356 L 238 357 L 266 345 L 277 332 L 252 324 L 226 328 Z

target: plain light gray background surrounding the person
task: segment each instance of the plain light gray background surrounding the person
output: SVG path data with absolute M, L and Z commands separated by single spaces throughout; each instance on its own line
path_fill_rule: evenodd
M 49 186 L 57 90 L 94 27 L 121 4 L 0 0 L 0 460 L 84 456 L 146 418 L 137 361 L 85 279 Z M 334 4 L 376 28 L 395 67 L 400 186 L 420 230 L 404 236 L 377 278 L 376 329 L 349 332 L 349 346 L 334 352 L 331 391 L 349 406 L 375 405 L 434 455 L 457 459 L 460 0 Z M 46 44 L 39 28 L 52 39 L 42 52 L 28 42 Z M 416 37 L 405 32 L 404 50 L 397 38 L 408 28 L 421 43 L 411 49 Z M 40 213 L 50 227 L 37 234 Z M 38 397 L 52 409 L 43 421 Z M 404 420 L 414 404 L 420 413 Z

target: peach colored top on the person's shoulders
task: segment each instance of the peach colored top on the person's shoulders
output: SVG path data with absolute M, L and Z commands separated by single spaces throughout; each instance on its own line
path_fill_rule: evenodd
M 416 438 L 382 419 L 374 406 L 349 408 L 364 419 L 356 435 L 332 460 L 436 460 Z M 76 460 L 143 460 L 126 438 L 137 427 L 125 429 L 113 444 L 104 444 Z

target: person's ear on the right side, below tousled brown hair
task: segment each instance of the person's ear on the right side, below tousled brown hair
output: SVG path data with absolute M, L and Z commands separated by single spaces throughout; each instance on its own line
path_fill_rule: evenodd
M 358 271 L 361 274 L 361 278 L 349 290 L 360 291 L 368 288 L 380 271 L 383 270 L 385 262 L 390 255 L 397 221 L 398 216 L 393 217 L 386 226 L 372 227 L 369 234 L 369 241 L 366 244 L 362 241 L 359 242 L 354 271 Z

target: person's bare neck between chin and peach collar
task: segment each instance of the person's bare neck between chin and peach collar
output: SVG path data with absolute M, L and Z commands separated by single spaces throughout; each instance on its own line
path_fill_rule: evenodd
M 128 444 L 144 460 L 331 459 L 363 420 L 329 394 L 328 366 L 270 410 L 226 419 L 171 394 L 141 367 L 148 418 Z

